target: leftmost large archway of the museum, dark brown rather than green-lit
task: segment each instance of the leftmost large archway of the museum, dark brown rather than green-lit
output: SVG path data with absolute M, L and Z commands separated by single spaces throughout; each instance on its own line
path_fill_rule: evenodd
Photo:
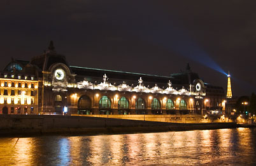
M 90 115 L 92 110 L 92 101 L 88 96 L 81 96 L 78 100 L 78 114 Z

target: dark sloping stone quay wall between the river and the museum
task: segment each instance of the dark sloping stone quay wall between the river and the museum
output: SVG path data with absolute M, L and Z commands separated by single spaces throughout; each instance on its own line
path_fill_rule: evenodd
M 122 134 L 242 127 L 233 122 L 171 123 L 61 115 L 0 115 L 0 136 Z

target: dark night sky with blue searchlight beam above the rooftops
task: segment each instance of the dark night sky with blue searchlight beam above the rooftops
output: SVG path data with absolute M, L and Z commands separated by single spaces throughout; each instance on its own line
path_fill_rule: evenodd
M 1 70 L 53 40 L 69 65 L 169 75 L 187 62 L 233 96 L 256 92 L 256 1 L 0 2 Z M 111 78 L 109 78 L 111 80 Z

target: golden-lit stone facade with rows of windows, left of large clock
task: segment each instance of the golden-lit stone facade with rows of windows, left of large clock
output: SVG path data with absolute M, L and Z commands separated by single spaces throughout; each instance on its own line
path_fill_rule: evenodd
M 0 78 L 0 110 L 3 114 L 37 114 L 38 81 L 33 77 L 5 74 Z M 8 78 L 13 77 L 13 78 Z M 19 77 L 20 79 L 15 79 Z M 30 79 L 30 80 L 29 80 Z

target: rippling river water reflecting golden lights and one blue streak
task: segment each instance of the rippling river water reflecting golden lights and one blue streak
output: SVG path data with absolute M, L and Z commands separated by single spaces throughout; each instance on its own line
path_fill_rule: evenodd
M 0 165 L 256 165 L 256 129 L 1 137 Z

